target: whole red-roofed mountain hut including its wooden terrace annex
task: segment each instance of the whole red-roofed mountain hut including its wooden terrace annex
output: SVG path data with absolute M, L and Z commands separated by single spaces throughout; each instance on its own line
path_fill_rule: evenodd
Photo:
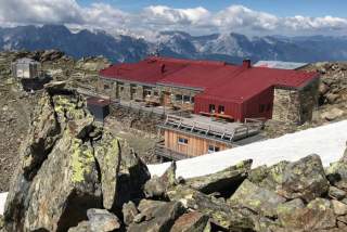
M 168 118 L 160 126 L 163 147 L 189 156 L 232 147 L 240 134 L 255 132 L 255 124 L 245 126 L 249 119 L 310 120 L 320 81 L 317 73 L 254 67 L 249 60 L 233 65 L 159 56 L 112 65 L 100 78 L 113 99 L 193 113 L 190 121 Z

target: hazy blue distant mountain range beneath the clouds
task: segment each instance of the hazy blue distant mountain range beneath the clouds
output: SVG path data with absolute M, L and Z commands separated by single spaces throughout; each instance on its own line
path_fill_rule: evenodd
M 70 30 L 63 25 L 0 27 L 0 50 L 57 49 L 76 59 L 103 55 L 113 62 L 137 62 L 158 52 L 164 56 L 218 60 L 243 59 L 319 62 L 347 60 L 347 37 L 246 37 L 240 34 L 192 36 L 160 31 L 155 39 L 111 35 L 102 30 Z

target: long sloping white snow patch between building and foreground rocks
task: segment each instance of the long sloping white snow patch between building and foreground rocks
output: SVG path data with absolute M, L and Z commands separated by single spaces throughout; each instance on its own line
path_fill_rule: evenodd
M 245 159 L 253 168 L 274 165 L 281 160 L 295 162 L 310 154 L 320 155 L 323 166 L 337 162 L 347 141 L 347 120 L 285 134 L 277 139 L 252 143 L 219 153 L 177 162 L 177 177 L 193 178 L 215 173 Z M 149 165 L 152 176 L 162 176 L 170 163 Z

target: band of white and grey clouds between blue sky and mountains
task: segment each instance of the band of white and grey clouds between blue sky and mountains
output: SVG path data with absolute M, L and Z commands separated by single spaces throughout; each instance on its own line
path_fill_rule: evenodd
M 243 33 L 247 35 L 346 35 L 347 18 L 296 15 L 279 17 L 243 5 L 231 5 L 217 13 L 197 7 L 174 9 L 151 5 L 128 13 L 99 1 L 81 7 L 76 0 L 1 0 L 0 25 L 66 24 L 108 31 L 184 30 L 192 34 Z

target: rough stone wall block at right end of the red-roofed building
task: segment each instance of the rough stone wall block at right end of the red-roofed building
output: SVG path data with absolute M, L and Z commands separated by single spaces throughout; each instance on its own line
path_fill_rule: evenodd
M 274 88 L 272 119 L 304 124 L 311 120 L 318 104 L 319 79 L 301 89 Z

